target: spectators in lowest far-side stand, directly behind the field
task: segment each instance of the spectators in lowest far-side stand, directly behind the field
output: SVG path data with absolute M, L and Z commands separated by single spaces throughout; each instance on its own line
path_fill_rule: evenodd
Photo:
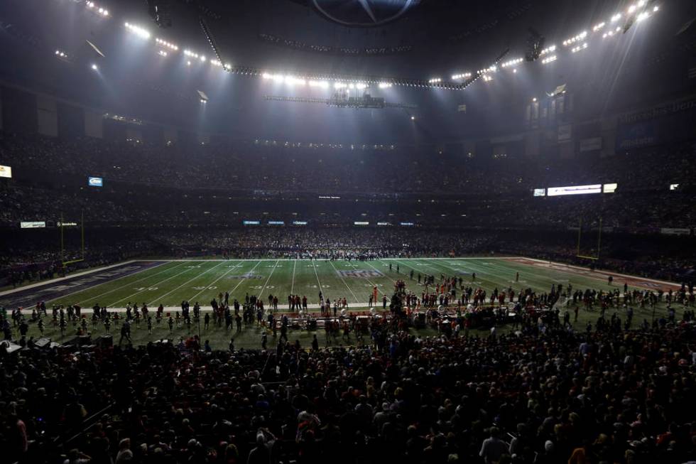
M 77 234 L 79 231 L 72 231 Z M 33 234 L 27 241 L 23 234 Z M 37 239 L 36 231 L 8 234 L 0 247 L 0 282 L 4 285 L 47 279 L 62 271 L 61 261 L 80 259 L 79 246 L 60 255 L 54 234 Z M 580 266 L 598 266 L 625 274 L 666 281 L 694 279 L 696 254 L 691 237 L 658 236 L 646 240 L 630 234 L 604 234 L 599 261 L 577 257 L 577 237 L 572 232 L 546 233 L 516 230 L 438 230 L 421 227 L 153 227 L 105 228 L 87 234 L 86 266 L 124 259 L 152 257 L 227 257 L 251 259 L 329 258 L 377 259 L 384 257 L 449 257 L 490 255 L 526 256 Z M 597 254 L 594 241 L 583 242 L 582 252 Z M 79 244 L 78 244 L 79 245 Z

